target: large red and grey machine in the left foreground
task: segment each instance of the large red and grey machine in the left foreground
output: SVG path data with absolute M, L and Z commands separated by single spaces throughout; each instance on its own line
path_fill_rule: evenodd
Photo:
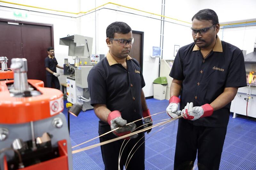
M 0 81 L 0 169 L 72 169 L 63 94 L 27 80 L 27 60 L 12 59 L 14 80 Z

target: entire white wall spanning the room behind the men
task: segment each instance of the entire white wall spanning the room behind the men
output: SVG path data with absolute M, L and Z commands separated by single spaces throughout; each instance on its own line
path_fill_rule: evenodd
M 95 7 L 102 4 L 113 2 L 116 4 L 121 4 L 124 6 L 136 8 L 142 11 L 148 11 L 156 14 L 161 14 L 162 0 L 130 0 L 130 1 L 120 1 L 120 0 L 94 0 L 94 1 L 68 1 L 68 0 L 56 0 L 56 1 L 33 1 L 33 0 L 12 0 L 10 2 L 34 5 L 43 8 L 51 8 L 60 11 L 89 11 Z M 47 11 L 36 8 L 23 7 L 19 5 L 12 5 L 6 3 L 0 3 L 0 5 L 17 7 L 22 9 L 30 9 L 35 11 L 42 11 L 54 14 L 68 15 L 77 17 L 75 14 L 66 14 L 56 11 Z M 193 42 L 191 31 L 189 27 L 191 23 L 191 18 L 193 15 L 205 8 L 210 8 L 216 11 L 219 16 L 220 22 L 235 21 L 235 20 L 246 20 L 250 18 L 256 18 L 255 12 L 256 1 L 255 0 L 180 0 L 180 1 L 165 1 L 165 16 L 175 18 L 178 20 L 173 20 L 170 18 L 165 18 L 166 21 L 174 22 L 177 24 L 182 24 L 186 26 L 181 26 L 173 23 L 164 23 L 164 46 L 163 46 L 163 59 L 174 59 L 173 51 L 174 45 L 180 45 L 180 47 Z M 150 49 L 152 46 L 160 45 L 160 31 L 161 31 L 161 21 L 141 17 L 138 15 L 123 13 L 120 11 L 127 11 L 139 15 L 145 15 L 147 17 L 154 17 L 160 19 L 161 17 L 147 14 L 142 11 L 136 11 L 133 9 L 127 9 L 114 4 L 108 4 L 103 7 L 111 8 L 119 11 L 112 11 L 107 9 L 102 9 L 91 14 L 84 15 L 79 18 L 71 17 L 61 17 L 51 14 L 44 14 L 38 12 L 28 12 L 28 18 L 15 18 L 13 16 L 13 9 L 0 7 L 0 18 L 8 19 L 19 19 L 31 22 L 41 22 L 53 24 L 54 28 L 54 47 L 55 56 L 62 65 L 64 63 L 64 58 L 69 58 L 69 62 L 73 63 L 71 57 L 68 55 L 68 47 L 59 45 L 59 39 L 62 37 L 73 34 L 81 34 L 84 36 L 93 37 L 93 53 L 106 54 L 108 48 L 106 46 L 106 28 L 114 21 L 123 21 L 131 26 L 132 30 L 144 32 L 144 55 L 143 55 L 143 76 L 146 82 L 146 86 L 143 88 L 145 96 L 153 95 L 153 80 L 158 77 L 158 61 L 159 58 L 150 57 Z M 185 22 L 182 22 L 185 21 Z M 254 27 L 241 27 L 241 28 L 227 28 L 220 30 L 218 34 L 220 38 L 231 44 L 236 45 L 240 49 L 247 50 L 247 53 L 253 50 L 253 42 L 255 41 L 255 26 Z M 62 70 L 58 70 L 62 72 Z M 62 82 L 63 79 L 60 78 Z

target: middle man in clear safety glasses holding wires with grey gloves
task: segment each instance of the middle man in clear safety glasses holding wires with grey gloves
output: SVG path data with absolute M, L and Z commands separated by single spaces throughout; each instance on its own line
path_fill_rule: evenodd
M 90 70 L 87 81 L 91 105 L 100 119 L 99 135 L 119 129 L 100 137 L 100 142 L 124 136 L 153 124 L 142 91 L 145 82 L 140 64 L 129 56 L 134 41 L 131 27 L 124 22 L 114 22 L 107 27 L 106 34 L 106 43 L 109 48 L 107 57 Z M 145 117 L 144 126 L 143 121 L 140 120 L 142 117 Z M 147 132 L 149 133 L 150 130 Z M 118 170 L 118 165 L 123 169 L 130 158 L 126 169 L 144 170 L 144 141 L 143 132 L 126 137 L 125 140 L 102 145 L 101 154 L 105 170 Z M 132 150 L 135 144 L 136 147 Z M 129 159 L 127 159 L 128 156 Z

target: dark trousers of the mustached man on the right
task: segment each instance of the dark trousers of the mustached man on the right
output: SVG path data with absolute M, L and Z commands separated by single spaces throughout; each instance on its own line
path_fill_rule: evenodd
M 227 127 L 194 126 L 179 120 L 174 170 L 192 170 L 197 153 L 199 170 L 218 170 Z

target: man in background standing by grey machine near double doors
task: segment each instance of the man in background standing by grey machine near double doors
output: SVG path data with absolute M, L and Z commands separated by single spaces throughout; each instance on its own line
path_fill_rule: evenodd
M 46 85 L 47 87 L 52 88 L 52 83 L 55 86 L 55 89 L 60 90 L 60 82 L 58 77 L 60 73 L 57 73 L 56 67 L 63 69 L 58 65 L 56 58 L 54 57 L 54 48 L 49 47 L 47 49 L 48 56 L 44 59 L 45 70 L 46 70 Z

